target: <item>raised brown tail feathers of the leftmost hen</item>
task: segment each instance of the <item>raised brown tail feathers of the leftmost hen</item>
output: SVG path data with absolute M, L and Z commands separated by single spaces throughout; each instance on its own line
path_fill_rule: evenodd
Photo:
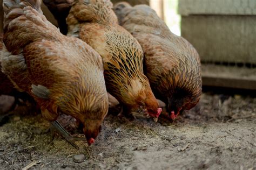
M 40 0 L 4 0 L 3 42 L 12 54 L 38 39 L 54 40 L 58 29 L 43 15 Z M 51 30 L 51 31 L 49 31 Z

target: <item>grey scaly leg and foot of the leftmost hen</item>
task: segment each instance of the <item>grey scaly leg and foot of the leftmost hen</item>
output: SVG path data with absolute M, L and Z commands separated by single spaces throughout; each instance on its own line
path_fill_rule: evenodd
M 78 140 L 86 140 L 86 138 L 79 138 L 79 137 L 73 137 L 71 136 L 71 134 L 66 131 L 63 126 L 58 122 L 58 121 L 55 121 L 55 122 L 51 122 L 51 125 L 56 129 L 58 130 L 58 132 L 60 134 L 62 134 L 62 136 L 66 139 L 66 141 L 68 141 L 68 143 L 70 145 L 72 145 L 73 147 L 75 147 L 77 150 L 79 149 L 79 147 L 75 144 L 75 141 L 78 141 Z

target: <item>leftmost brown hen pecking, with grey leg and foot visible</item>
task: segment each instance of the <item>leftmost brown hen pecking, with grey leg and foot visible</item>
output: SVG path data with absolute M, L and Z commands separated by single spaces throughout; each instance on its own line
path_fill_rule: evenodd
M 4 0 L 3 72 L 30 94 L 45 119 L 77 147 L 56 119 L 80 121 L 90 145 L 108 110 L 100 55 L 78 38 L 66 37 L 44 17 L 40 0 Z M 55 122 L 53 122 L 55 121 Z

